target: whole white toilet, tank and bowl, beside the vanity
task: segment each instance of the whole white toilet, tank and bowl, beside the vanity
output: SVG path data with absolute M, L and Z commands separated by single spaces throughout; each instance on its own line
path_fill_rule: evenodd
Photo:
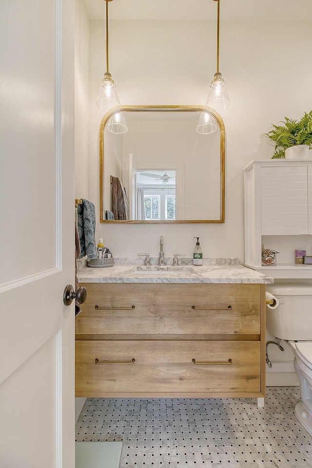
M 312 435 L 312 284 L 279 283 L 266 289 L 279 300 L 275 309 L 267 307 L 267 328 L 273 337 L 286 340 L 295 355 L 301 402 L 294 412 Z

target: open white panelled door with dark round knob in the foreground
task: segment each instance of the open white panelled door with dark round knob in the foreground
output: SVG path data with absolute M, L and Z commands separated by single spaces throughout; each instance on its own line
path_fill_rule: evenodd
M 74 468 L 74 4 L 0 2 L 0 467 Z

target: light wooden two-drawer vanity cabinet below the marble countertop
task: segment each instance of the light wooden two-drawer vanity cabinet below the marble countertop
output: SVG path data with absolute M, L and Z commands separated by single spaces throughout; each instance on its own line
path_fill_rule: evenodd
M 265 284 L 80 285 L 76 396 L 265 396 Z

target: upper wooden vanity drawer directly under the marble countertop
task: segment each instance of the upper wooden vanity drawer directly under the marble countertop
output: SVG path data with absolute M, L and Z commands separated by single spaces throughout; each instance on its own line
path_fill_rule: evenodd
M 259 284 L 83 285 L 88 295 L 76 318 L 78 339 L 98 334 L 260 334 Z

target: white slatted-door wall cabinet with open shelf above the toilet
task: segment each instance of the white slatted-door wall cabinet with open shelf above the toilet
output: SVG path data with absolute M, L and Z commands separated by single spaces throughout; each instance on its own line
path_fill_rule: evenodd
M 245 265 L 274 278 L 312 278 L 312 267 L 295 264 L 293 252 L 306 248 L 312 255 L 312 240 L 299 237 L 312 234 L 312 160 L 257 160 L 243 170 Z M 279 242 L 270 237 L 269 243 L 282 244 L 289 255 L 292 252 L 290 263 L 262 266 L 261 244 L 278 250 L 267 244 L 266 236 L 283 236 Z

